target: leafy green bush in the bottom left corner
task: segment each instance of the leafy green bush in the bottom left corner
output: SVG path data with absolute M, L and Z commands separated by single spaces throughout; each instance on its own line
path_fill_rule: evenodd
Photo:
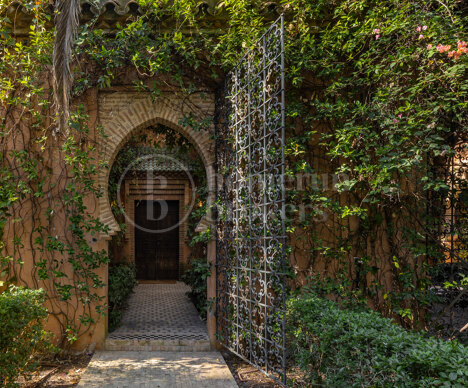
M 0 386 L 16 387 L 15 379 L 35 368 L 38 352 L 50 346 L 43 329 L 47 310 L 43 290 L 10 286 L 0 294 Z

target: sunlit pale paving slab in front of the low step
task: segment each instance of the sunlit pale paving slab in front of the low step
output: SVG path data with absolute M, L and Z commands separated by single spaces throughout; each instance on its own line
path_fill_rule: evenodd
M 218 352 L 96 352 L 78 388 L 238 388 Z

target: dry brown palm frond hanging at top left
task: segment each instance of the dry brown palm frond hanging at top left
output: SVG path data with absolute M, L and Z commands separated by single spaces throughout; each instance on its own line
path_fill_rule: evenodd
M 53 81 L 59 130 L 64 130 L 70 116 L 70 91 L 73 83 L 70 63 L 80 22 L 80 0 L 56 0 Z

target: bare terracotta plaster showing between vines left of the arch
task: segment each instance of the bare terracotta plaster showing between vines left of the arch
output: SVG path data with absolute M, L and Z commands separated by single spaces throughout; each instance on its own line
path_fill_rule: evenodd
M 90 90 L 82 98 L 76 101 L 77 104 L 82 104 L 89 114 L 88 125 L 91 133 L 88 136 L 83 136 L 83 139 L 88 144 L 95 144 L 98 136 L 95 133 L 95 128 L 98 123 L 98 103 L 97 91 Z M 49 112 L 52 115 L 52 112 Z M 15 133 L 10 137 L 10 143 L 7 149 L 11 150 L 32 150 L 31 156 L 37 158 L 39 163 L 37 170 L 40 177 L 45 177 L 45 185 L 43 187 L 43 196 L 26 196 L 21 198 L 12 209 L 12 217 L 10 222 L 5 226 L 4 239 L 7 245 L 2 250 L 2 254 L 11 255 L 13 264 L 10 267 L 9 280 L 18 285 L 25 285 L 30 288 L 43 288 L 47 290 L 48 301 L 46 307 L 50 315 L 46 322 L 46 329 L 55 334 L 55 343 L 63 344 L 66 333 L 64 328 L 69 322 L 74 322 L 79 327 L 81 338 L 74 345 L 78 348 L 83 348 L 89 344 L 101 343 L 105 337 L 105 319 L 102 319 L 95 313 L 94 309 L 84 307 L 76 294 L 68 301 L 62 301 L 54 291 L 53 279 L 42 279 L 38 265 L 41 261 L 47 262 L 47 267 L 60 270 L 66 276 L 55 279 L 61 285 L 74 285 L 74 280 L 77 279 L 73 271 L 72 265 L 67 262 L 66 253 L 60 254 L 49 250 L 40 250 L 39 247 L 43 244 L 37 243 L 35 240 L 41 237 L 41 232 L 38 227 L 44 227 L 42 237 L 49 235 L 52 239 L 59 241 L 71 241 L 69 232 L 70 222 L 68 216 L 64 213 L 63 205 L 63 190 L 67 185 L 69 170 L 64 163 L 63 153 L 60 148 L 63 144 L 63 137 L 54 132 L 53 127 L 49 127 L 50 121 L 45 115 L 45 122 L 40 128 L 24 126 L 20 130 L 15 129 Z M 30 142 L 30 134 L 40 136 L 41 133 L 48 135 L 47 148 L 40 150 L 40 144 Z M 8 154 L 6 152 L 5 154 Z M 30 157 L 28 156 L 30 160 Z M 12 160 L 9 160 L 12 163 Z M 12 172 L 17 175 L 24 175 L 15 164 L 10 164 Z M 37 186 L 36 186 L 37 187 Z M 33 185 L 34 189 L 34 185 Z M 95 197 L 85 198 L 85 204 L 88 210 L 96 215 L 98 213 L 98 202 Z M 21 244 L 15 244 L 15 239 L 21 238 Z M 101 240 L 99 236 L 86 236 L 90 246 L 93 249 L 107 249 L 107 243 Z M 18 264 L 21 261 L 22 264 Z M 104 282 L 107 282 L 107 267 L 100 268 L 96 272 L 101 276 Z M 107 297 L 107 290 L 98 290 L 98 294 Z M 105 302 L 105 300 L 104 300 Z M 88 311 L 89 310 L 89 311 Z M 85 329 L 79 324 L 79 315 L 83 312 L 88 312 L 90 316 L 96 320 L 97 324 Z

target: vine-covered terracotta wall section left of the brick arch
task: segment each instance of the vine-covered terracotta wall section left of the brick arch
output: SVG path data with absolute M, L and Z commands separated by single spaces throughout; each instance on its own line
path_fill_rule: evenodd
M 54 295 L 49 319 L 61 328 L 58 341 L 66 347 L 106 312 L 98 269 L 108 258 L 92 246 L 106 233 L 91 200 L 102 195 L 95 182 L 102 164 L 79 103 L 68 131 L 56 131 L 48 2 L 15 6 L 30 16 L 25 39 L 14 35 L 10 5 L 0 4 L 1 277 Z

